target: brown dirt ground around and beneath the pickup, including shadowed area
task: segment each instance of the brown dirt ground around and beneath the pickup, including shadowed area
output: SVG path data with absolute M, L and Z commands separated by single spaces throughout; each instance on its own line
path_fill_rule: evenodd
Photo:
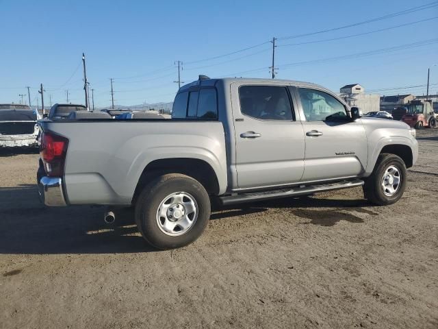
M 214 212 L 182 249 L 129 216 L 43 208 L 38 154 L 0 154 L 0 328 L 438 328 L 438 130 L 404 197 L 361 188 Z

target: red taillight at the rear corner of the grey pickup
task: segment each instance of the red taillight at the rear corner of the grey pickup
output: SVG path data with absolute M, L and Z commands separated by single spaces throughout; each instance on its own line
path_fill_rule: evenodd
M 50 132 L 41 135 L 40 155 L 48 176 L 64 175 L 68 139 Z

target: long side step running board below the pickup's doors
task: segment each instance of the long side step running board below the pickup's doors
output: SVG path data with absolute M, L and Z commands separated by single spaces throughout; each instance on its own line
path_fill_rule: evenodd
M 240 204 L 243 202 L 254 202 L 259 200 L 278 199 L 280 197 L 295 197 L 299 195 L 308 195 L 318 192 L 339 190 L 341 188 L 350 188 L 362 186 L 363 180 L 344 180 L 342 182 L 319 184 L 319 185 L 300 185 L 294 188 L 283 188 L 281 190 L 241 193 L 237 195 L 227 195 L 219 197 L 219 202 L 223 206 L 230 204 Z

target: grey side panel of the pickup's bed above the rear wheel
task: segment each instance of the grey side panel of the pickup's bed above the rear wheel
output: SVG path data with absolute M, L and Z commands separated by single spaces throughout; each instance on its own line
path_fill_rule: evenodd
M 131 204 L 144 168 L 154 160 L 197 158 L 227 186 L 224 128 L 219 121 L 40 121 L 43 132 L 68 138 L 63 188 L 68 204 Z M 178 159 L 175 159 L 177 161 Z

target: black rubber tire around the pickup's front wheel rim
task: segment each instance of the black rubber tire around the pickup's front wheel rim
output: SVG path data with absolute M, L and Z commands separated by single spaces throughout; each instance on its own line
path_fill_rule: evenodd
M 383 176 L 389 167 L 398 169 L 400 184 L 396 188 L 394 195 L 387 195 L 387 191 L 383 190 Z M 378 206 L 387 206 L 394 204 L 402 197 L 406 189 L 407 170 L 403 160 L 395 154 L 381 154 L 377 158 L 376 165 L 371 175 L 365 179 L 363 185 L 363 194 L 365 199 L 368 199 L 372 204 Z

